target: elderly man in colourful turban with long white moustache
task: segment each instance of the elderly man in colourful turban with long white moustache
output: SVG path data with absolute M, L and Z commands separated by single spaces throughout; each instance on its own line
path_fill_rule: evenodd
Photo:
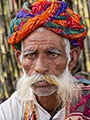
M 90 120 L 89 81 L 70 73 L 85 37 L 81 16 L 65 2 L 24 3 L 8 37 L 24 74 L 0 120 Z

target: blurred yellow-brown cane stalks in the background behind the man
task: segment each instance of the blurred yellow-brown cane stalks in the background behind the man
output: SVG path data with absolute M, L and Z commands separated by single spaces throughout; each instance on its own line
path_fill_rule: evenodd
M 15 52 L 7 43 L 9 24 L 21 6 L 27 0 L 0 0 L 0 103 L 15 91 L 16 80 L 23 74 L 15 60 Z M 34 0 L 28 0 L 32 3 Z M 84 76 L 90 80 L 90 0 L 62 0 L 76 13 L 79 13 L 86 25 L 87 38 L 84 49 L 72 74 Z

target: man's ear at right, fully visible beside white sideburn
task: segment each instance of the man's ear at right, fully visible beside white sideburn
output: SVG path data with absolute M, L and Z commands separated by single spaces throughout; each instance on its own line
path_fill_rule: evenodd
M 80 51 L 77 48 L 73 48 L 70 50 L 71 60 L 68 64 L 69 71 L 71 71 L 75 67 L 78 61 L 79 55 L 80 55 Z

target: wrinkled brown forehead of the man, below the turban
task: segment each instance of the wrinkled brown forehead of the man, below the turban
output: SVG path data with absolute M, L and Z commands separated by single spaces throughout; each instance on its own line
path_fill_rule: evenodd
M 23 40 L 23 47 L 24 49 L 33 48 L 37 46 L 38 48 L 41 46 L 42 48 L 44 46 L 46 47 L 55 47 L 55 48 L 61 48 L 65 49 L 65 42 L 64 38 L 60 35 L 44 29 L 39 28 L 36 31 L 29 34 L 24 40 Z

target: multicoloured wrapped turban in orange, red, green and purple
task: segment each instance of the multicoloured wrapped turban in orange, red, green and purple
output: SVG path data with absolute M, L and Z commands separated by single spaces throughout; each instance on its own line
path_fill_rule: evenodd
M 39 0 L 25 2 L 10 23 L 8 43 L 14 50 L 20 49 L 21 41 L 39 27 L 44 27 L 70 40 L 74 47 L 83 49 L 87 32 L 80 15 L 75 14 L 63 1 Z

